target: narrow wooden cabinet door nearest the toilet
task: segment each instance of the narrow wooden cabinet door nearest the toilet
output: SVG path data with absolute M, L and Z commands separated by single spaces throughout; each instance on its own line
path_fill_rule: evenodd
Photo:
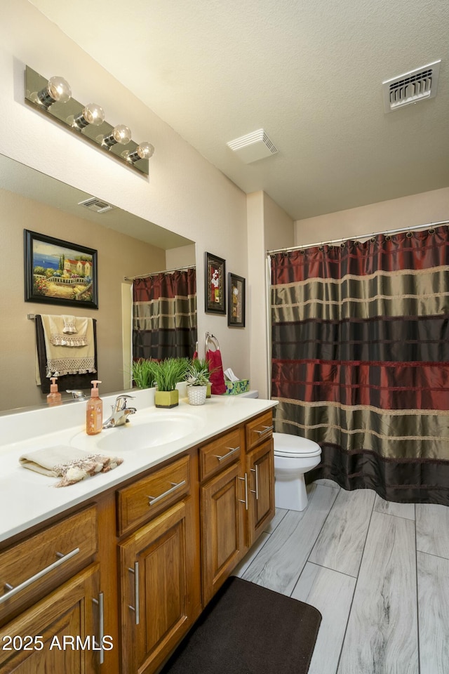
M 246 456 L 249 482 L 248 546 L 262 534 L 274 515 L 274 454 L 273 439 L 260 444 Z

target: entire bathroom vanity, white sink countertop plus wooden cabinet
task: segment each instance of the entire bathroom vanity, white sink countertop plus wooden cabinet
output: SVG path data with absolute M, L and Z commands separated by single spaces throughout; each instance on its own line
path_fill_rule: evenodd
M 0 417 L 2 673 L 157 672 L 274 515 L 275 402 L 161 411 L 151 395 L 95 437 L 67 425 L 79 403 Z M 18 466 L 42 443 L 123 463 L 55 489 Z

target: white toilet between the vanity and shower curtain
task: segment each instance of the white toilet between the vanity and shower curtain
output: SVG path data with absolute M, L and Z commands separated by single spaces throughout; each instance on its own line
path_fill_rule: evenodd
M 257 398 L 257 391 L 241 393 L 241 397 Z M 276 508 L 304 510 L 307 491 L 304 473 L 321 461 L 321 447 L 300 435 L 273 433 L 274 502 Z

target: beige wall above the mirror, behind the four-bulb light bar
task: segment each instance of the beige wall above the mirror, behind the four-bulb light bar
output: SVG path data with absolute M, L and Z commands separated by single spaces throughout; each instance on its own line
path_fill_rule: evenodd
M 153 143 L 149 176 L 25 105 L 25 65 L 46 77 L 62 75 L 74 98 L 95 100 L 109 123 L 127 124 L 135 140 Z M 249 331 L 229 329 L 226 316 L 203 310 L 205 251 L 248 276 L 246 195 L 26 0 L 2 6 L 0 80 L 2 126 L 8 129 L 0 153 L 196 242 L 200 351 L 208 330 L 220 341 L 227 366 L 248 371 Z M 119 303 L 120 291 L 109 301 Z

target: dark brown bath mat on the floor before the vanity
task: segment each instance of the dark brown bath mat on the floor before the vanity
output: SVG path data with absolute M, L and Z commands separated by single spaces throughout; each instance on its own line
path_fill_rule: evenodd
M 307 674 L 321 614 L 231 576 L 161 674 Z

